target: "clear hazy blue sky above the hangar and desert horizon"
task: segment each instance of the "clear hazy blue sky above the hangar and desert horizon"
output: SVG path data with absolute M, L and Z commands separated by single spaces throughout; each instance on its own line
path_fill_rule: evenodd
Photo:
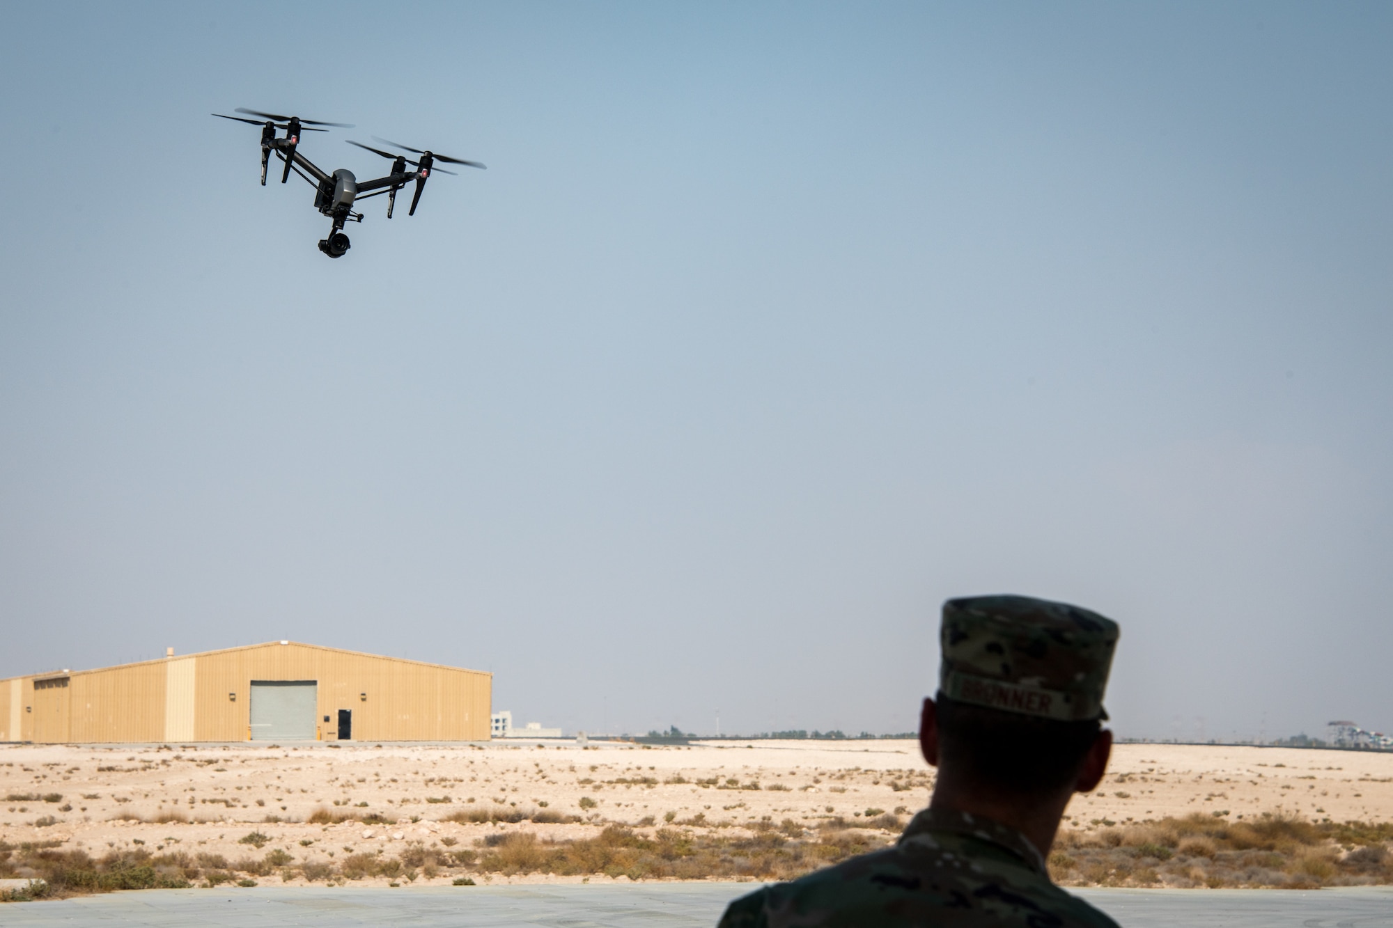
M 384 22 L 390 25 L 383 25 Z M 1393 7 L 10 4 L 0 676 L 295 638 L 574 729 L 1393 729 Z M 341 261 L 247 106 L 488 163 Z

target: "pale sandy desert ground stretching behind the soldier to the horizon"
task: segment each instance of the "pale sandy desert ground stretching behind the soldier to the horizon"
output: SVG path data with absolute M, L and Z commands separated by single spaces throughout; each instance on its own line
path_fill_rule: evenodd
M 93 857 L 143 846 L 152 853 L 184 850 L 235 860 L 279 847 L 297 864 L 332 864 L 414 842 L 469 847 L 510 830 L 570 839 L 592 836 L 610 823 L 648 830 L 673 822 L 702 832 L 745 830 L 761 819 L 812 826 L 833 817 L 855 821 L 890 812 L 905 818 L 926 804 L 932 783 L 933 771 L 918 745 L 892 740 L 690 747 L 554 741 L 7 745 L 0 748 L 0 796 L 7 797 L 0 804 L 0 840 L 61 842 Z M 316 810 L 375 815 L 387 823 L 309 823 Z M 546 810 L 581 821 L 444 821 L 472 810 Z M 1102 787 L 1075 797 L 1066 826 L 1088 830 L 1197 811 L 1229 821 L 1287 812 L 1315 821 L 1387 822 L 1393 819 L 1393 754 L 1121 744 Z M 241 842 L 254 832 L 266 840 Z M 885 840 L 890 839 L 886 833 Z M 362 885 L 375 882 L 386 878 Z M 422 876 L 422 882 L 429 881 Z

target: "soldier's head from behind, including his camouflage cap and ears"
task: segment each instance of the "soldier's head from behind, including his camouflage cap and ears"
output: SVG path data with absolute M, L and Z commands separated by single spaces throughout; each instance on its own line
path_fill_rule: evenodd
M 1022 800 L 1073 791 L 1105 737 L 1117 624 L 1028 596 L 950 599 L 940 645 L 937 699 L 925 706 L 935 744 L 925 754 L 932 748 L 942 776 Z

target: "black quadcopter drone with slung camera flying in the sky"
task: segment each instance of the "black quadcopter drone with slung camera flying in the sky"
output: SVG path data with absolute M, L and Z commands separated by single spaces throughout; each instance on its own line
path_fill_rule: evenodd
M 260 117 L 256 120 L 248 120 L 241 116 L 223 116 L 221 113 L 213 113 L 213 116 L 224 120 L 237 120 L 238 123 L 249 123 L 252 125 L 262 127 L 262 187 L 266 185 L 266 166 L 270 163 L 272 153 L 274 153 L 276 157 L 286 163 L 286 170 L 280 173 L 281 184 L 290 180 L 290 171 L 295 171 L 315 188 L 315 209 L 333 220 L 329 237 L 319 240 L 319 251 L 325 252 L 330 258 L 343 258 L 344 252 L 348 251 L 348 235 L 343 233 L 343 227 L 345 222 L 362 222 L 362 213 L 357 213 L 352 209 L 354 203 L 359 199 L 387 194 L 387 219 L 391 219 L 391 210 L 397 205 L 397 191 L 411 181 L 415 181 L 417 192 L 411 196 L 411 209 L 407 212 L 408 216 L 415 216 L 417 203 L 421 202 L 421 191 L 426 188 L 426 178 L 430 177 L 430 173 L 439 171 L 442 174 L 454 174 L 454 171 L 447 171 L 443 167 L 435 167 L 436 162 L 444 162 L 447 164 L 465 164 L 468 167 L 479 169 L 483 167 L 483 164 L 478 162 L 467 162 L 462 157 L 450 157 L 449 155 L 436 155 L 435 152 L 422 150 L 419 148 L 408 148 L 407 145 L 389 142 L 384 138 L 373 135 L 372 138 L 376 142 L 400 148 L 404 152 L 411 152 L 414 155 L 419 155 L 421 157 L 418 160 L 411 160 L 405 155 L 393 155 L 391 152 L 384 152 L 380 148 L 372 148 L 371 145 L 354 142 L 352 139 L 344 139 L 350 145 L 357 145 L 358 148 L 364 148 L 373 155 L 391 159 L 391 173 L 386 177 L 376 177 L 371 181 L 359 181 L 354 177 L 352 171 L 343 167 L 332 174 L 326 174 L 315 166 L 313 162 L 297 150 L 299 146 L 301 132 L 329 131 L 315 128 L 316 125 L 333 125 L 337 128 L 352 128 L 352 125 L 347 123 L 302 120 L 298 116 L 259 113 L 256 110 L 245 110 L 242 107 L 237 107 L 234 111 Z M 277 137 L 276 130 L 286 130 L 286 135 Z M 415 170 L 408 171 L 407 164 L 414 164 Z

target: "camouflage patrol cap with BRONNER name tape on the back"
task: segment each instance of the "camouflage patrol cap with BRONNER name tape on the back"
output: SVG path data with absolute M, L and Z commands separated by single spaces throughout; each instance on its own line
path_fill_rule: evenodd
M 1060 722 L 1106 719 L 1117 623 L 1031 596 L 943 603 L 939 690 L 958 702 Z

